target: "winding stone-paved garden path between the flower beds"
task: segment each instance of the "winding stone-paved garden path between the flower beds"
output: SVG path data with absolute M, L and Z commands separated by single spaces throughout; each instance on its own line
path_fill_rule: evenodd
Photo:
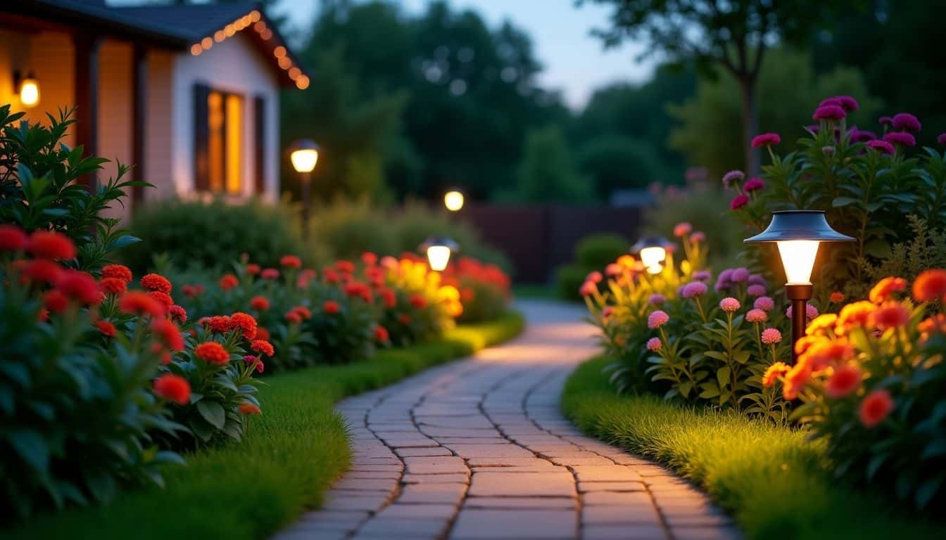
M 518 307 L 518 340 L 342 401 L 352 469 L 277 540 L 739 538 L 689 483 L 562 417 L 565 379 L 597 350 L 583 310 Z

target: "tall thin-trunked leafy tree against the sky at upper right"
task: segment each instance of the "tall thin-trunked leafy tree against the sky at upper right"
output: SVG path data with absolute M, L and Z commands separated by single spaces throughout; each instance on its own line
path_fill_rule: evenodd
M 740 93 L 743 145 L 759 132 L 757 82 L 771 44 L 807 40 L 819 21 L 856 0 L 578 0 L 614 6 L 611 27 L 598 31 L 604 44 L 644 39 L 644 55 L 692 62 L 715 77 L 719 68 L 735 78 Z M 760 170 L 759 152 L 745 154 L 745 170 Z

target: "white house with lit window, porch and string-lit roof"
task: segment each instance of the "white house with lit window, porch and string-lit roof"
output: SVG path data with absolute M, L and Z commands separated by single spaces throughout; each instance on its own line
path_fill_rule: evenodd
M 131 206 L 278 198 L 279 91 L 309 78 L 261 6 L 0 2 L 0 103 L 30 122 L 76 107 L 66 144 L 134 164 Z M 114 165 L 98 176 L 114 175 Z

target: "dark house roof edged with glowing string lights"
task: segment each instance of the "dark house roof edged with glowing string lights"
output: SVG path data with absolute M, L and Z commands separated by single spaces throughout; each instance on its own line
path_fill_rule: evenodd
M 8 0 L 0 11 L 94 27 L 99 34 L 146 42 L 199 56 L 236 33 L 247 36 L 285 86 L 308 86 L 306 69 L 258 2 L 110 7 L 100 0 Z

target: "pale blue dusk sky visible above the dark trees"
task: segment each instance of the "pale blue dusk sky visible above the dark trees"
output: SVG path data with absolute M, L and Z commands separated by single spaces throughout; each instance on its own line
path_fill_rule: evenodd
M 405 9 L 423 11 L 430 0 L 400 0 Z M 586 4 L 576 8 L 572 0 L 450 0 L 454 9 L 475 9 L 492 27 L 504 19 L 524 28 L 532 36 L 535 53 L 545 66 L 540 80 L 560 89 L 572 108 L 585 105 L 598 86 L 616 80 L 643 81 L 650 77 L 654 62 L 638 63 L 639 44 L 624 44 L 604 51 L 601 41 L 589 35 L 594 27 L 607 24 L 608 8 Z M 294 21 L 311 21 L 318 0 L 279 0 L 276 10 L 291 13 Z M 305 27 L 305 24 L 296 23 Z

